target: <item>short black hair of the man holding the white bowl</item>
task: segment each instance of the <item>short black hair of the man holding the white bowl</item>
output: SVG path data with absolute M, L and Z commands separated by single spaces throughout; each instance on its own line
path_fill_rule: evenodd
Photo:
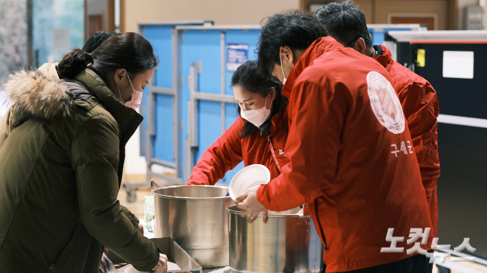
M 262 26 L 256 49 L 261 73 L 264 77 L 270 77 L 272 66 L 281 64 L 278 54 L 281 47 L 305 50 L 316 39 L 324 36 L 326 31 L 316 16 L 299 10 L 270 16 Z

